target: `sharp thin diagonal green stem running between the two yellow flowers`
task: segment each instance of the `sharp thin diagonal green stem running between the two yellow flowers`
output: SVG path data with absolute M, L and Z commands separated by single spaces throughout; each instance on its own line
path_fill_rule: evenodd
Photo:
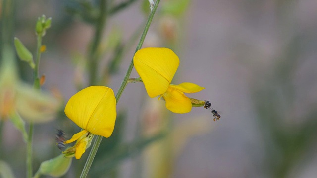
M 149 15 L 148 21 L 147 21 L 147 23 L 145 25 L 145 28 L 143 30 L 143 33 L 142 33 L 142 36 L 140 38 L 139 44 L 138 44 L 137 48 L 135 49 L 135 52 L 140 50 L 142 45 L 143 45 L 145 36 L 148 33 L 148 30 L 149 30 L 149 27 L 151 25 L 151 22 L 152 22 L 152 19 L 154 17 L 154 14 L 155 14 L 158 6 L 159 6 L 159 1 L 160 0 L 157 0 L 155 2 L 155 5 L 154 5 L 154 7 L 153 7 L 153 9 L 152 9 L 152 11 L 151 11 L 151 13 Z M 118 90 L 118 93 L 115 96 L 115 99 L 116 99 L 117 103 L 119 102 L 119 99 L 120 99 L 120 97 L 122 95 L 122 92 L 124 91 L 124 89 L 125 89 L 125 87 L 127 85 L 128 79 L 129 79 L 131 71 L 132 71 L 132 68 L 133 68 L 133 59 L 131 60 L 129 68 L 128 68 L 128 70 L 127 70 L 127 72 L 125 74 L 125 77 L 124 77 L 124 79 L 123 79 L 123 81 L 121 83 L 121 86 L 120 86 L 120 88 Z M 88 174 L 88 171 L 89 171 L 89 169 L 90 169 L 90 167 L 91 167 L 91 165 L 92 165 L 92 163 L 94 161 L 94 158 L 96 156 L 96 153 L 97 153 L 97 150 L 98 150 L 98 147 L 100 145 L 100 142 L 101 142 L 102 138 L 103 138 L 102 136 L 97 136 L 97 138 L 96 138 L 96 140 L 94 142 L 94 145 L 93 145 L 93 147 L 92 147 L 92 149 L 91 149 L 91 151 L 89 153 L 89 156 L 87 158 L 87 161 L 86 161 L 86 164 L 85 164 L 85 166 L 83 168 L 83 171 L 82 171 L 82 173 L 80 175 L 80 178 L 86 178 L 86 176 Z

